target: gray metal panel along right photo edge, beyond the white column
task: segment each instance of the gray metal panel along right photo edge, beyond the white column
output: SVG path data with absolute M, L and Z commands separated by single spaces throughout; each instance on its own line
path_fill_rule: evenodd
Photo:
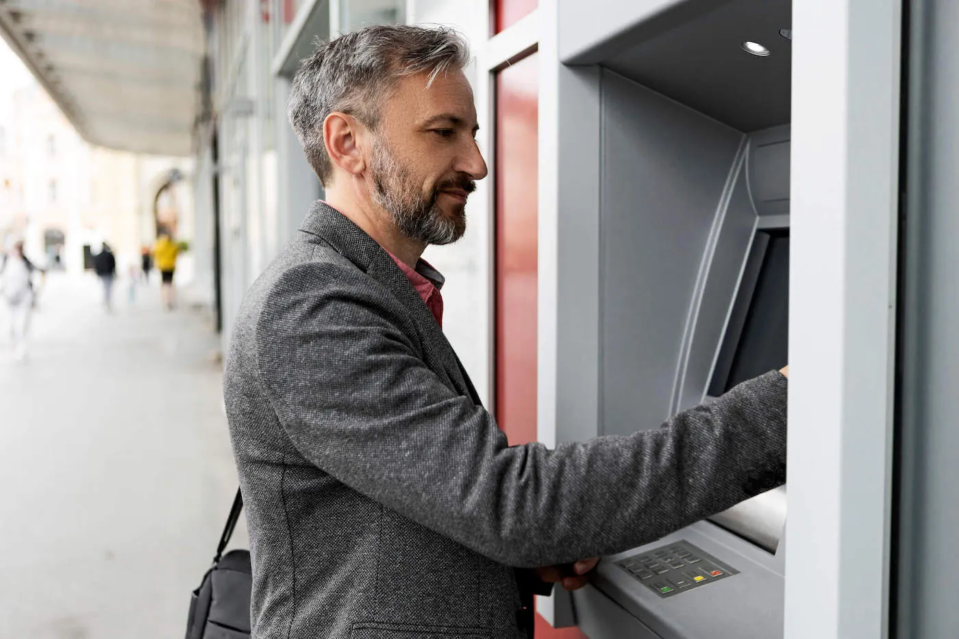
M 952 0 L 912 3 L 908 192 L 901 289 L 900 639 L 959 627 L 959 65 Z M 894 549 L 894 553 L 897 549 Z

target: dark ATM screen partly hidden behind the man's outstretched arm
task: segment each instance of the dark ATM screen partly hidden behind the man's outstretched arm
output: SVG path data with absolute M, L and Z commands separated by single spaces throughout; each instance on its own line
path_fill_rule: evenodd
M 789 232 L 758 231 L 710 384 L 718 396 L 784 367 L 789 335 Z

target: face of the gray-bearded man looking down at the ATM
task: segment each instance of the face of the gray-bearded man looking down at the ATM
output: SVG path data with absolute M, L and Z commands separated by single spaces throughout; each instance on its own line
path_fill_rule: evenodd
M 456 242 L 466 199 L 486 177 L 476 144 L 473 91 L 462 71 L 403 78 L 386 101 L 369 157 L 373 200 L 400 232 L 426 244 Z

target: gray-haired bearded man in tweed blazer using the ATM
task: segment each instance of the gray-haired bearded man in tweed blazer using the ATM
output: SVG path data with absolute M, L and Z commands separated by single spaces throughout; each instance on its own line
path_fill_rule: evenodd
M 371 27 L 293 81 L 326 201 L 249 290 L 224 377 L 257 639 L 529 637 L 544 581 L 784 482 L 778 372 L 660 430 L 507 447 L 420 259 L 486 175 L 468 59 L 447 30 Z

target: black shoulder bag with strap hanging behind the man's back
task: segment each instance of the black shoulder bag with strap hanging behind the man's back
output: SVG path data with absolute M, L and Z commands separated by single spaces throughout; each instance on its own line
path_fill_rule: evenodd
M 206 571 L 199 588 L 190 600 L 190 616 L 186 639 L 249 639 L 249 594 L 252 587 L 249 551 L 223 551 L 233 535 L 243 495 L 237 490 L 233 508 L 213 557 L 213 567 Z

